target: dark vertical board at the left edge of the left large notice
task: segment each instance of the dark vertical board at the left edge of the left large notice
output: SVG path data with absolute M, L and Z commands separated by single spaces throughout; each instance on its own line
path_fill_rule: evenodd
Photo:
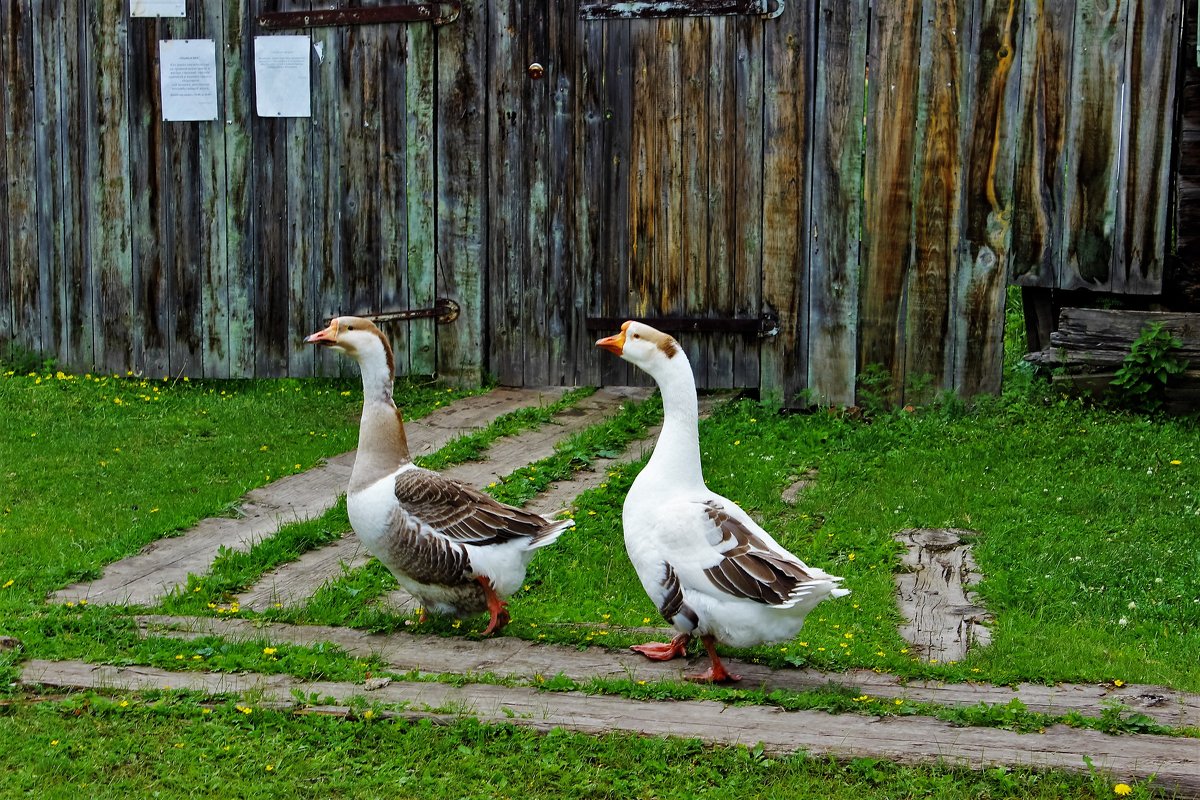
M 168 200 L 172 176 L 163 157 L 170 127 L 193 122 L 163 122 L 155 61 L 166 24 L 156 18 L 130 18 L 125 86 L 130 149 L 130 245 L 133 264 L 132 367 L 157 377 L 170 372 L 168 342 L 173 303 L 167 259 L 172 251 L 173 209 Z

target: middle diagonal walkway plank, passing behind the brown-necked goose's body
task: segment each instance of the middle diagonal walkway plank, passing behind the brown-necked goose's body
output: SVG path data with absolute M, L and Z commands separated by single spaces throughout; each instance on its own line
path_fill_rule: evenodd
M 484 487 L 520 467 L 552 455 L 557 443 L 611 415 L 628 398 L 644 399 L 649 391 L 602 389 L 556 415 L 550 425 L 498 441 L 488 450 L 486 461 L 460 464 L 442 474 L 469 486 Z M 253 587 L 238 595 L 238 602 L 247 610 L 264 610 L 276 603 L 296 606 L 322 585 L 341 576 L 344 569 L 358 569 L 368 560 L 370 554 L 360 547 L 358 537 L 347 533 L 342 540 L 308 551 L 295 561 L 268 572 Z M 391 593 L 385 602 L 397 609 L 413 607 L 412 597 L 402 590 Z

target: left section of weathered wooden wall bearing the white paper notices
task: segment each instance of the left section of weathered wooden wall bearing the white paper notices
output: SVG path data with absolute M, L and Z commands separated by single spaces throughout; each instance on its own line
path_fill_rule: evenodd
M 464 307 L 452 333 L 390 327 L 397 369 L 480 379 L 484 88 L 438 70 L 427 24 L 282 31 L 312 36 L 313 114 L 259 118 L 256 17 L 313 6 L 0 4 L 0 341 L 74 368 L 325 374 L 344 365 L 301 338 L 331 314 L 445 293 Z M 451 65 L 480 59 L 481 22 L 463 17 Z M 158 42 L 176 38 L 215 41 L 215 121 L 162 121 Z M 457 127 L 436 130 L 436 95 Z

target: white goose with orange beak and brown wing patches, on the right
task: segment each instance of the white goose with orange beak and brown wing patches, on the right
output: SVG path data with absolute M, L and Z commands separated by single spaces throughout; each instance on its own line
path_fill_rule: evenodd
M 841 578 L 784 549 L 736 503 L 704 486 L 696 381 L 679 343 L 628 321 L 596 342 L 649 373 L 662 393 L 662 432 L 625 498 L 625 549 L 659 612 L 679 634 L 632 648 L 655 661 L 685 655 L 694 636 L 712 666 L 698 681 L 740 680 L 716 642 L 746 648 L 791 639 L 826 597 L 850 594 Z

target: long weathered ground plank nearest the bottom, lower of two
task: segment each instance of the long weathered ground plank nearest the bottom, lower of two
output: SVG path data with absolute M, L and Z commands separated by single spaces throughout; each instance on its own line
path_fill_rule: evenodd
M 773 753 L 869 756 L 904 764 L 1085 772 L 1091 770 L 1085 760 L 1090 759 L 1112 780 L 1151 780 L 1154 786 L 1169 790 L 1200 795 L 1194 740 L 1110 736 L 1066 726 L 1049 728 L 1045 734 L 1021 734 L 996 728 L 960 728 L 929 717 L 832 716 L 824 711 L 781 711 L 773 706 L 734 706 L 713 700 L 648 702 L 484 684 L 451 686 L 409 681 L 392 681 L 367 690 L 360 684 L 308 682 L 286 675 L 168 672 L 149 667 L 95 667 L 83 662 L 31 661 L 22 672 L 22 682 L 109 691 L 168 686 L 215 693 L 253 691 L 257 703 L 282 704 L 282 708 L 295 708 L 298 696 L 332 698 L 340 705 L 364 698 L 404 706 L 402 716 L 410 717 L 444 717 L 445 709 L 455 709 L 455 716 L 539 730 L 565 728 L 589 734 L 623 730 L 698 738 L 721 745 L 762 744 Z

